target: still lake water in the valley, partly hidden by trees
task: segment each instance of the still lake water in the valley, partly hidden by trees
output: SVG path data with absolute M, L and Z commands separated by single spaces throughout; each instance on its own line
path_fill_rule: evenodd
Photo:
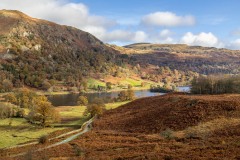
M 189 87 L 178 87 L 179 91 L 188 92 Z M 149 90 L 139 90 L 134 91 L 135 97 L 142 98 L 142 97 L 152 97 L 163 95 L 164 93 L 154 93 L 150 92 Z M 101 92 L 101 93 L 86 93 L 85 96 L 88 98 L 89 102 L 91 102 L 94 98 L 102 98 L 105 102 L 110 99 L 116 98 L 119 92 Z M 54 106 L 75 106 L 77 105 L 77 99 L 79 94 L 64 94 L 64 95 L 51 95 L 48 96 L 49 101 Z

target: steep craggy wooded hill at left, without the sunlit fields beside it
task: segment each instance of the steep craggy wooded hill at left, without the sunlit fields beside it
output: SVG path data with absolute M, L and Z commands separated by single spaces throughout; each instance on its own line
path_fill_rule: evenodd
M 1 78 L 16 86 L 40 87 L 45 79 L 71 82 L 109 73 L 123 62 L 119 56 L 87 32 L 19 11 L 0 10 Z

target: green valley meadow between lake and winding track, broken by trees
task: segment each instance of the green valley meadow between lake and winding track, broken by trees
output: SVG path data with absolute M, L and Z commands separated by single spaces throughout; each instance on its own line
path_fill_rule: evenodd
M 116 102 L 106 104 L 106 109 L 114 109 L 128 102 Z M 28 141 L 36 141 L 42 135 L 65 129 L 66 126 L 82 125 L 89 117 L 84 116 L 85 106 L 58 107 L 62 118 L 73 118 L 67 123 L 54 124 L 58 127 L 42 128 L 29 124 L 24 118 L 11 118 L 0 120 L 0 148 L 11 147 Z M 11 125 L 9 123 L 11 122 Z M 62 125 L 62 126 L 61 126 Z

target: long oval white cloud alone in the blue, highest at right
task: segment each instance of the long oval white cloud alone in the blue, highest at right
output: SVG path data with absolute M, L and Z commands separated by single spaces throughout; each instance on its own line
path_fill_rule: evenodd
M 142 18 L 142 23 L 151 26 L 191 26 L 195 18 L 191 15 L 178 16 L 172 12 L 155 12 Z

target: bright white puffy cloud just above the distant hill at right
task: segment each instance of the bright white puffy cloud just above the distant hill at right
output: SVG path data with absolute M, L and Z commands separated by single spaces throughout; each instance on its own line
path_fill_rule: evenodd
M 193 34 L 191 32 L 186 33 L 180 43 L 188 44 L 191 46 L 204 46 L 204 47 L 224 47 L 224 44 L 211 32 L 201 32 L 199 34 Z

